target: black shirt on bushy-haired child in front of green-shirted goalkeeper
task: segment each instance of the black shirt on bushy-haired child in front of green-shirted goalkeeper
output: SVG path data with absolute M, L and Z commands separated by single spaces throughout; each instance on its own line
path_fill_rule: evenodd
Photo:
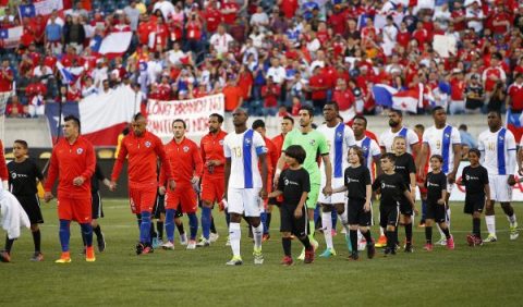
M 304 168 L 299 170 L 287 169 L 281 172 L 278 181 L 278 191 L 283 192 L 284 206 L 297 206 L 302 194 L 311 192 L 308 172 Z

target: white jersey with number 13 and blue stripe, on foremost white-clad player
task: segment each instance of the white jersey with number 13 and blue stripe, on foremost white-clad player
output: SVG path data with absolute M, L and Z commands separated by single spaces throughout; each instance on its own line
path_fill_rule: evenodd
M 267 154 L 265 140 L 253 130 L 244 133 L 229 133 L 223 139 L 223 154 L 231 159 L 229 187 L 262 187 L 262 175 L 258 169 L 258 156 Z

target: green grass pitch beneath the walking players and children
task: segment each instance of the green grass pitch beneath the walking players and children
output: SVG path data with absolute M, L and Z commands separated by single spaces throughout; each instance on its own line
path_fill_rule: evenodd
M 498 206 L 498 205 L 497 205 Z M 271 240 L 264 244 L 265 263 L 254 266 L 253 244 L 242 223 L 244 265 L 228 267 L 231 258 L 224 246 L 227 231 L 222 212 L 214 210 L 220 238 L 207 248 L 185 250 L 175 234 L 175 250 L 155 250 L 136 256 L 134 245 L 138 230 L 124 199 L 105 199 L 106 218 L 100 220 L 107 250 L 97 254 L 96 262 L 80 255 L 80 226 L 72 223 L 72 263 L 57 265 L 60 255 L 56 202 L 42 205 L 46 223 L 41 225 L 44 262 L 31 262 L 33 238 L 28 230 L 14 244 L 12 262 L 0 263 L 0 306 L 52 305 L 180 305 L 251 306 L 384 306 L 453 304 L 461 306 L 521 306 L 523 294 L 523 237 L 509 241 L 508 222 L 497 207 L 498 242 L 472 248 L 465 236 L 472 228 L 462 204 L 451 208 L 455 250 L 437 246 L 423 250 L 424 230 L 414 228 L 414 254 L 402 250 L 396 257 L 348 261 L 343 234 L 335 237 L 338 256 L 316 258 L 313 265 L 301 261 L 282 267 L 282 248 L 278 232 L 279 214 L 273 210 Z M 377 208 L 375 208 L 377 209 Z M 521 204 L 516 213 L 523 217 Z M 417 221 L 416 221 L 417 222 Z M 486 226 L 482 220 L 484 237 Z M 188 231 L 184 218 L 185 230 Z M 338 229 L 340 224 L 338 223 Z M 377 226 L 373 228 L 376 237 Z M 3 236 L 2 234 L 2 245 Z M 199 235 L 199 233 L 198 233 Z M 404 230 L 400 229 L 400 241 Z M 325 248 L 323 234 L 318 253 Z M 435 241 L 439 233 L 434 229 Z M 96 240 L 95 240 L 96 244 Z M 293 255 L 301 251 L 293 241 Z

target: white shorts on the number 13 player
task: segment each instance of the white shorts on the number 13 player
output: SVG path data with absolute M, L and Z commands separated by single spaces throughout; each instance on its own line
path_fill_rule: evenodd
M 263 201 L 259 201 L 260 187 L 255 188 L 233 188 L 227 192 L 227 202 L 229 204 L 229 213 L 245 214 L 245 217 L 259 217 Z

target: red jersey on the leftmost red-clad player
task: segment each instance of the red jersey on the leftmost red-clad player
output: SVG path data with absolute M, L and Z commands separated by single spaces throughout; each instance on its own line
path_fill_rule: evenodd
M 95 148 L 90 142 L 83 136 L 78 136 L 73 144 L 62 138 L 52 149 L 44 188 L 50 192 L 58 177 L 58 195 L 90 196 L 90 177 L 95 173 Z M 77 176 L 84 177 L 81 186 L 73 185 L 73 180 Z

